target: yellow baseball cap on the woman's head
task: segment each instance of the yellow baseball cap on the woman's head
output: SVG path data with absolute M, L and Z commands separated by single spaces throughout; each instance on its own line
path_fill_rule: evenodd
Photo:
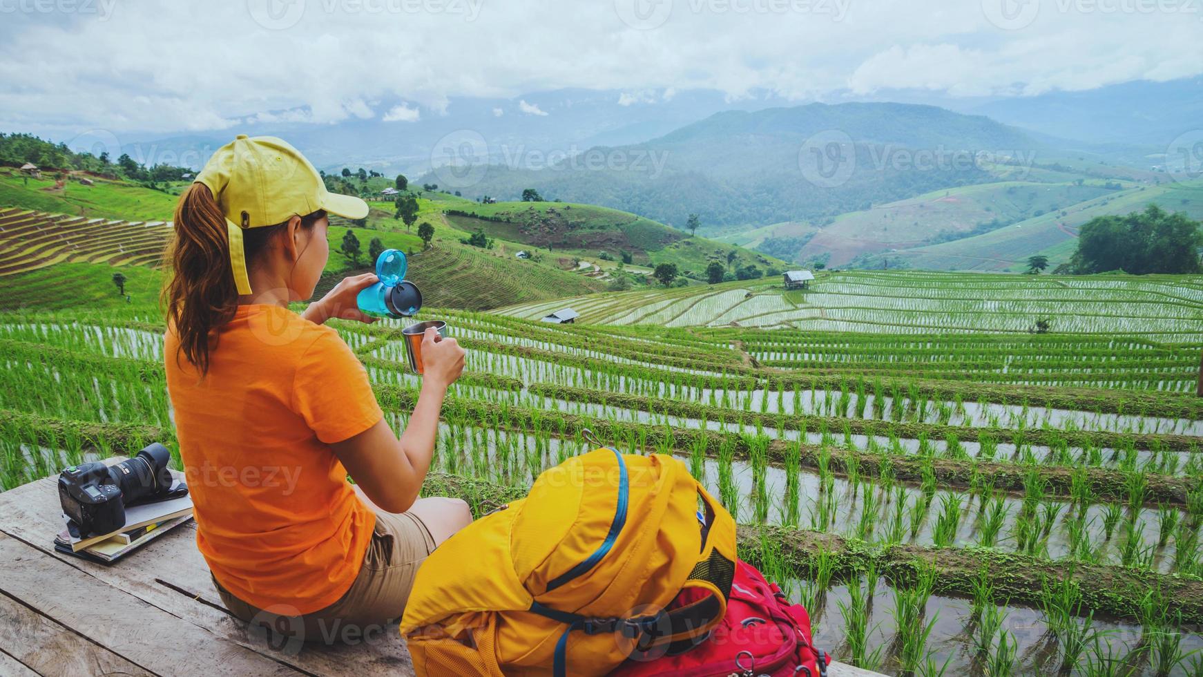
M 239 133 L 209 158 L 196 182 L 208 186 L 226 218 L 230 265 L 238 293 L 250 293 L 243 228 L 274 226 L 294 215 L 326 210 L 348 219 L 368 215 L 368 203 L 326 190 L 321 174 L 286 141 Z

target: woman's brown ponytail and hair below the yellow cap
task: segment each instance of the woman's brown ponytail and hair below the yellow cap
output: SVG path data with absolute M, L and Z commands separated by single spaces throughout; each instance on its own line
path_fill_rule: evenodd
M 302 216 L 301 226 L 312 228 L 325 215 L 314 212 Z M 286 225 L 288 221 L 243 230 L 248 268 Z M 209 352 L 217 346 L 217 328 L 233 319 L 238 308 L 238 290 L 230 265 L 225 214 L 202 183 L 194 183 L 176 204 L 174 236 L 165 263 L 171 274 L 164 283 L 160 302 L 168 326 L 179 337 L 176 360 L 182 352 L 203 376 L 209 370 Z

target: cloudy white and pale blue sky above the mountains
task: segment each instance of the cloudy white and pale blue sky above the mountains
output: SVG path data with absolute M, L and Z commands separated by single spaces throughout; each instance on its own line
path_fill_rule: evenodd
M 1201 0 L 0 0 L 0 130 L 411 121 L 452 97 L 1025 96 L 1203 72 Z M 515 101 L 521 112 L 538 106 Z

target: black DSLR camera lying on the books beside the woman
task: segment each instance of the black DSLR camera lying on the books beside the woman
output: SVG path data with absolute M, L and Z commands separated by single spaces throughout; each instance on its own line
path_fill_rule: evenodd
M 125 507 L 154 503 L 188 493 L 180 485 L 172 491 L 167 470 L 171 452 L 154 443 L 137 456 L 114 465 L 84 463 L 59 475 L 63 512 L 79 527 L 79 535 L 101 535 L 125 525 Z

